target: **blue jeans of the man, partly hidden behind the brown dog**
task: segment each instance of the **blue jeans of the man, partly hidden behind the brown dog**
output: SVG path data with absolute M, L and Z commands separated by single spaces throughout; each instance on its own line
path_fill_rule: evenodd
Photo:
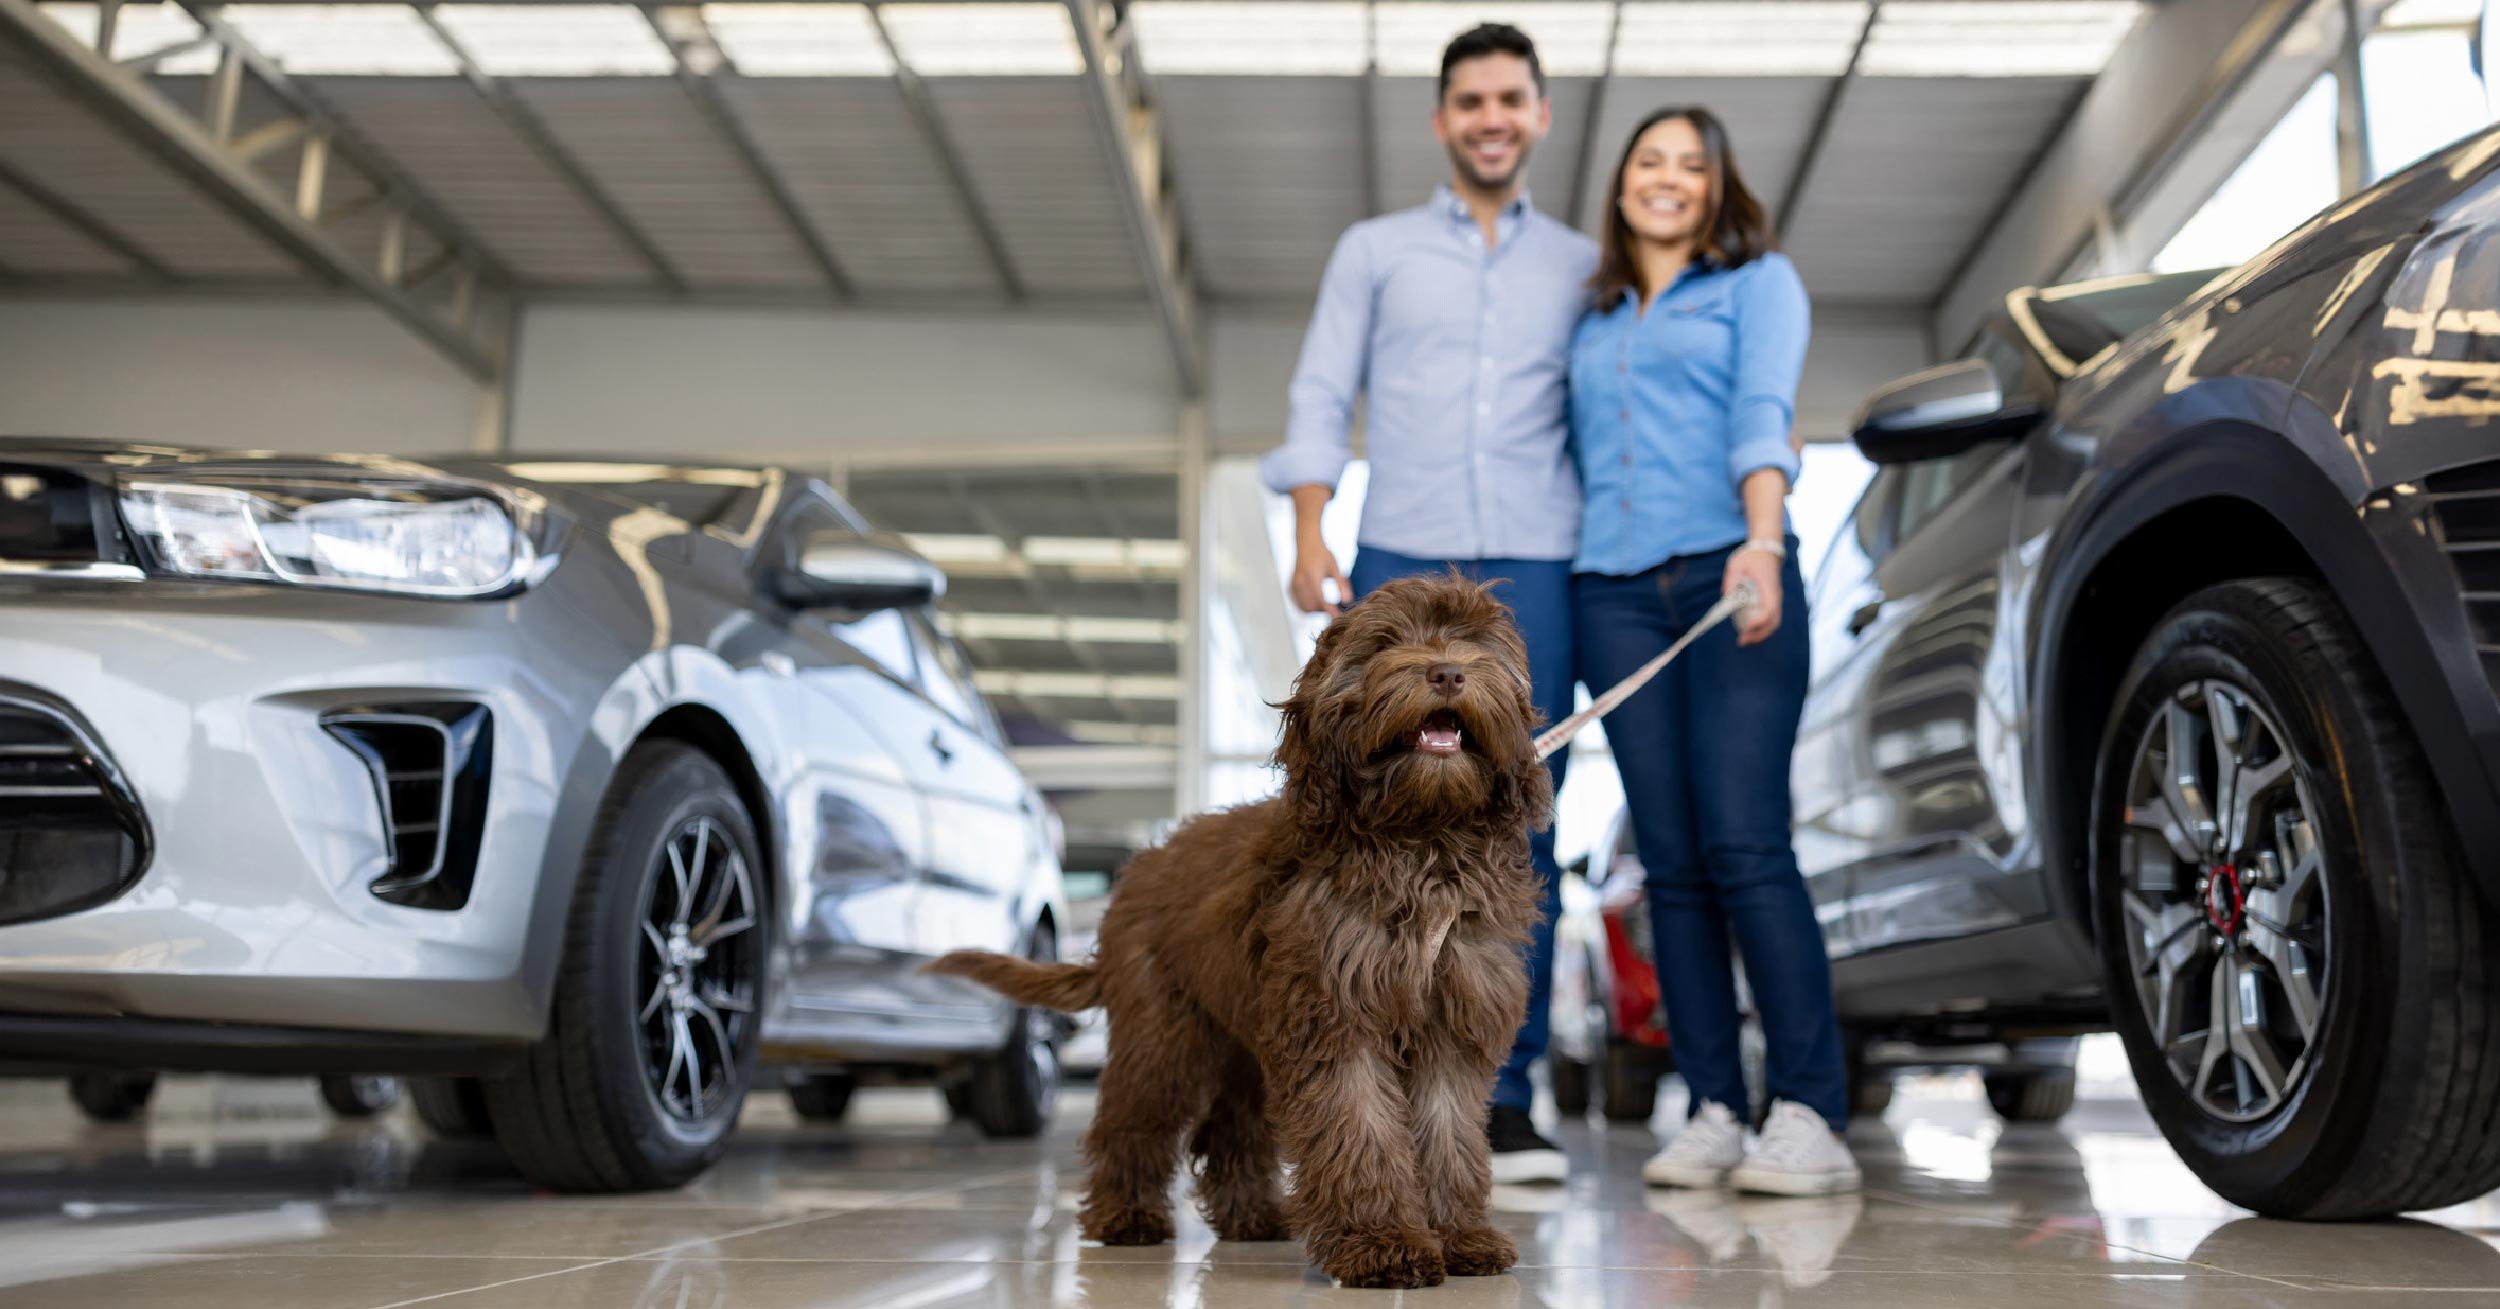
M 1545 722 L 1570 717 L 1568 560 L 1415 560 L 1390 550 L 1362 547 L 1355 552 L 1355 570 L 1348 575 L 1348 582 L 1352 582 L 1360 600 L 1395 577 L 1450 572 L 1452 567 L 1478 582 L 1498 582 L 1492 597 L 1510 605 L 1510 615 L 1520 625 L 1520 640 L 1528 642 L 1528 679 L 1535 684 L 1538 712 L 1545 714 Z M 1558 792 L 1562 789 L 1568 754 L 1555 752 L 1545 762 Z M 1555 867 L 1552 827 L 1530 834 L 1528 852 L 1538 864 L 1538 927 L 1528 942 L 1528 1024 L 1510 1042 L 1510 1062 L 1502 1064 L 1500 1079 L 1492 1082 L 1492 1102 L 1515 1109 L 1528 1109 L 1535 1102 L 1528 1067 L 1545 1054 L 1545 1032 L 1555 1002 L 1555 912 L 1560 909 L 1555 887 L 1562 877 Z

